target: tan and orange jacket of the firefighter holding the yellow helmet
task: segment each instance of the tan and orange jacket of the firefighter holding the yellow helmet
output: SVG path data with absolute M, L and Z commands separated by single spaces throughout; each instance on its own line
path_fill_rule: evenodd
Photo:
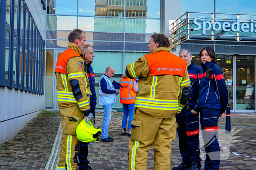
M 88 116 L 91 94 L 89 80 L 84 72 L 84 56 L 74 43 L 69 43 L 68 49 L 59 56 L 54 72 L 59 108 L 79 106 L 84 116 Z

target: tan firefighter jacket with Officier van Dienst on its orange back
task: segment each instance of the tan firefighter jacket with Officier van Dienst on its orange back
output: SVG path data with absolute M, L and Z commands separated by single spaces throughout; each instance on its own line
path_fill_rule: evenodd
M 135 100 L 138 108 L 154 118 L 172 118 L 188 102 L 191 87 L 185 60 L 159 47 L 126 66 L 128 78 L 139 77 Z

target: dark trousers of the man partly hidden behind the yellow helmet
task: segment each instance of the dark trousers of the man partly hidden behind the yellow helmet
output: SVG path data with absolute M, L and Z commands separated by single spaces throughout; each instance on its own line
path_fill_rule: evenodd
M 93 117 L 95 118 L 95 109 L 91 109 L 90 111 L 91 114 L 93 114 Z M 90 143 L 86 142 L 80 142 L 80 152 L 77 155 L 76 162 L 77 162 L 77 169 L 78 170 L 84 170 L 87 169 L 89 166 L 89 160 L 88 160 L 88 145 Z

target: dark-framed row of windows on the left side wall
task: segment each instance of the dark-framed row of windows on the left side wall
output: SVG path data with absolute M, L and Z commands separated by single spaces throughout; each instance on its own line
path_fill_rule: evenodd
M 0 86 L 44 94 L 45 41 L 27 4 L 24 0 L 2 0 L 0 11 L 5 11 L 0 15 L 0 52 L 4 56 L 0 58 Z M 39 71 L 35 72 L 35 65 Z M 36 84 L 34 76 L 40 80 Z

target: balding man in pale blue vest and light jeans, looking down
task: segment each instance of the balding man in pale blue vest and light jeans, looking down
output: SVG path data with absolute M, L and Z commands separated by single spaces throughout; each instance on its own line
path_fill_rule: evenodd
M 109 122 L 111 119 L 111 110 L 113 103 L 116 103 L 116 95 L 119 90 L 115 89 L 109 78 L 112 78 L 115 70 L 109 66 L 106 68 L 105 74 L 99 79 L 99 105 L 104 108 L 104 116 L 102 122 L 102 142 L 113 142 L 114 139 L 108 136 Z

